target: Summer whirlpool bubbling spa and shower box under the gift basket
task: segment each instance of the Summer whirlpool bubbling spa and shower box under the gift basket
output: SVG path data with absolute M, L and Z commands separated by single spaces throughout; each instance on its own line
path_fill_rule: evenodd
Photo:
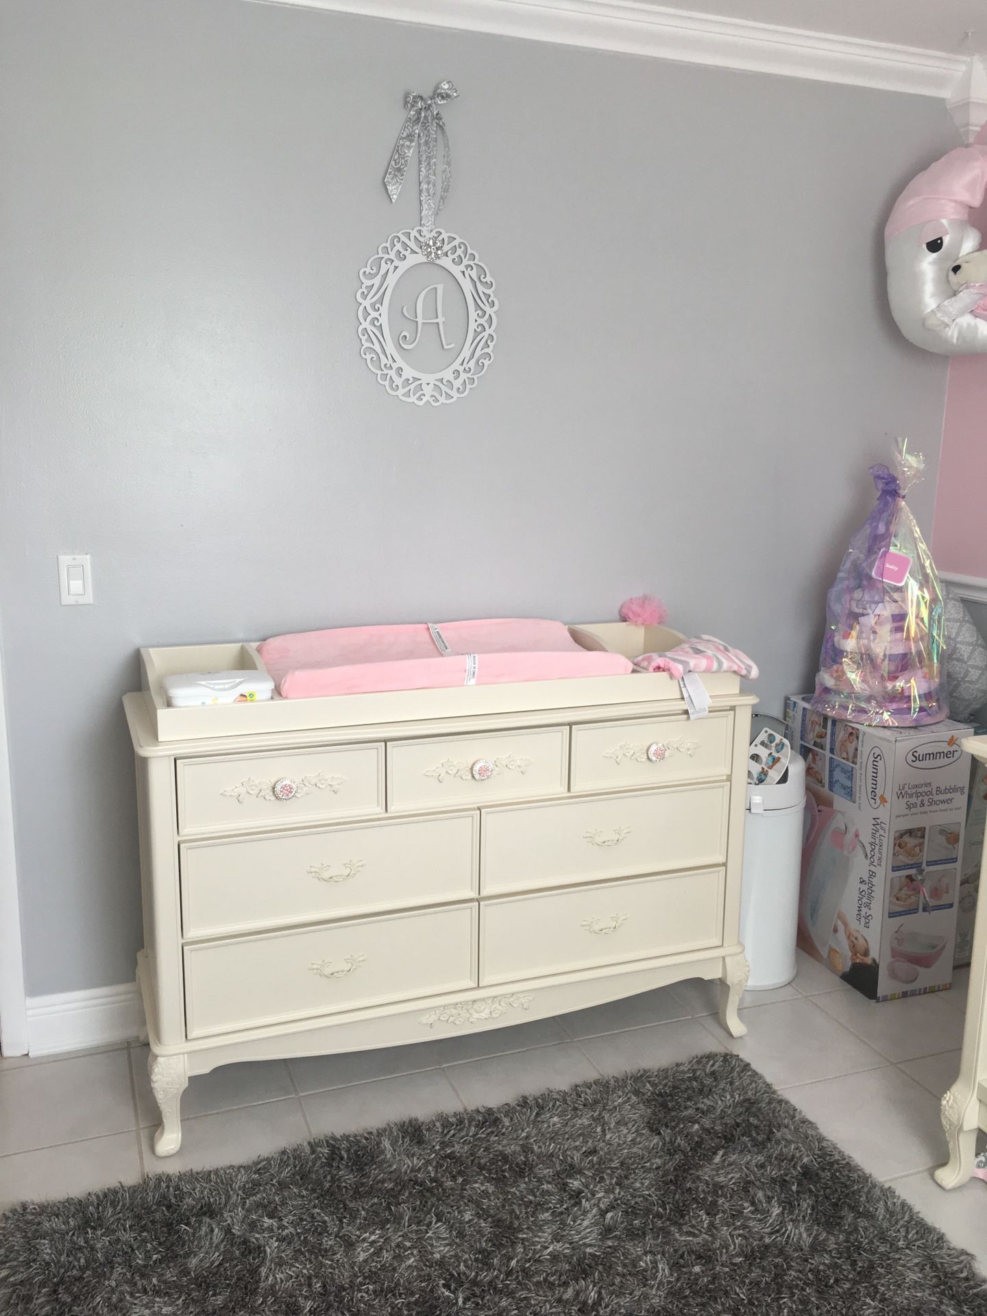
M 861 726 L 786 700 L 805 759 L 799 945 L 871 1000 L 953 978 L 969 728 Z

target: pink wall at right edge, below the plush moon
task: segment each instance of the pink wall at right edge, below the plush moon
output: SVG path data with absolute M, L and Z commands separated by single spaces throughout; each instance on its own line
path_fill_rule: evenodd
M 978 141 L 987 142 L 987 130 Z M 987 205 L 971 213 L 987 246 Z M 949 363 L 932 553 L 940 571 L 987 579 L 987 357 Z

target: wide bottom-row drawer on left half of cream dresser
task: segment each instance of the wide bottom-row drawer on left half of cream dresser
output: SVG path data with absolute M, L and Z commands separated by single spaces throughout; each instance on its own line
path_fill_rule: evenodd
M 190 1037 L 476 986 L 476 904 L 186 946 Z

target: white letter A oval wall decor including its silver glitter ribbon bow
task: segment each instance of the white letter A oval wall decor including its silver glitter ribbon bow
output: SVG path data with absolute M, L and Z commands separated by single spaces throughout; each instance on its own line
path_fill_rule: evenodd
M 497 299 L 487 267 L 455 233 L 436 228 L 453 180 L 441 107 L 458 95 L 449 80 L 430 96 L 408 92 L 384 187 L 396 201 L 417 145 L 421 222 L 378 247 L 359 272 L 357 292 L 361 355 L 390 393 L 417 407 L 465 397 L 490 365 L 496 341 Z

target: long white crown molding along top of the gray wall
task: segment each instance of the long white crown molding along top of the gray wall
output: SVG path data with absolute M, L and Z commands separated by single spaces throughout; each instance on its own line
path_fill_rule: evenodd
M 588 46 L 690 64 L 951 96 L 969 57 L 721 18 L 642 0 L 251 0 Z M 722 0 L 721 0 L 722 3 Z

